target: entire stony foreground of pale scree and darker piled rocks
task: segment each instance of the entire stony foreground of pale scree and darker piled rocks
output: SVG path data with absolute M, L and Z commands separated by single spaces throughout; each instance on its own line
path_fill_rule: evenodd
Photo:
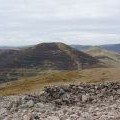
M 0 120 L 120 120 L 120 83 L 46 87 L 0 97 Z

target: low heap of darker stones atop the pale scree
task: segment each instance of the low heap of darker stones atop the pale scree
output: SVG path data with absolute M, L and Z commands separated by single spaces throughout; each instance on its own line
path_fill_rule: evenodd
M 116 100 L 120 98 L 120 83 L 82 83 L 80 85 L 46 87 L 42 96 L 44 102 L 58 105 Z

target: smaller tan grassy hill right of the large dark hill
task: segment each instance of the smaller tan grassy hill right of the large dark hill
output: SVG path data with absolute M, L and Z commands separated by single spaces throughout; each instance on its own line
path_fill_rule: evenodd
M 120 67 L 120 54 L 117 52 L 95 46 L 86 50 L 86 53 L 103 62 L 108 67 Z

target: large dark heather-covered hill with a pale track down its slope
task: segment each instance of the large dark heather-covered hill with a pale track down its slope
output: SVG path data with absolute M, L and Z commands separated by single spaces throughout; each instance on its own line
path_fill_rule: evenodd
M 0 53 L 0 68 L 82 69 L 97 67 L 99 61 L 63 43 L 42 43 Z

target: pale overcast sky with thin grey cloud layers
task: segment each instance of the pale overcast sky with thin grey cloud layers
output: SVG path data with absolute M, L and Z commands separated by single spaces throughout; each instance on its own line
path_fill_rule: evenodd
M 120 43 L 120 0 L 0 0 L 0 46 Z

